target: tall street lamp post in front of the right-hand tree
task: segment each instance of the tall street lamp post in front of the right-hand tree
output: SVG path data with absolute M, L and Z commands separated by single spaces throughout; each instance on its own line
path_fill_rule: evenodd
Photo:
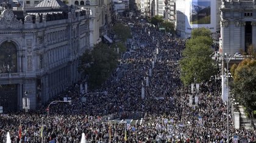
M 224 78 L 224 60 L 227 63 L 227 142 L 229 142 L 229 62 L 234 57 L 238 56 L 238 53 L 235 53 L 234 55 L 227 55 L 225 53 L 224 55 L 221 55 L 222 57 L 222 78 Z M 222 84 L 224 84 L 222 82 Z M 223 88 L 223 86 L 222 86 Z M 224 91 L 222 89 L 222 94 L 224 94 Z M 224 95 L 222 95 L 224 96 Z

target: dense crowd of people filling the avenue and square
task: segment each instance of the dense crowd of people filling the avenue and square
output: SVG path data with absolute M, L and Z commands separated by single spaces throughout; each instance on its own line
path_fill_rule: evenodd
M 221 99 L 218 75 L 200 85 L 197 105 L 191 107 L 190 88 L 179 79 L 185 39 L 169 38 L 139 20 L 132 22 L 133 38 L 126 56 L 119 59 L 122 76 L 116 80 L 113 76 L 118 74 L 113 73 L 93 91 L 107 91 L 107 95 L 82 95 L 77 83 L 55 97 L 69 97 L 72 104 L 52 104 L 49 117 L 46 107 L 27 115 L 22 111 L 1 115 L 0 142 L 6 142 L 7 131 L 12 142 L 27 143 L 75 143 L 82 133 L 88 142 L 227 142 L 227 118 L 230 141 L 233 135 L 255 141 L 255 130 L 233 127 L 231 111 L 227 115 L 227 104 Z M 108 119 L 110 115 L 125 119 L 133 112 L 143 113 L 143 119 L 127 131 L 127 124 Z

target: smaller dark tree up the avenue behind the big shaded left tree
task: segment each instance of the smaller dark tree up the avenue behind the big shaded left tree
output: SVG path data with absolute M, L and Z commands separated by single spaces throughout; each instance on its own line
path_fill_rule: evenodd
M 132 37 L 130 28 L 124 24 L 118 23 L 118 24 L 114 25 L 113 30 L 114 30 L 116 36 L 118 36 L 118 38 L 121 39 L 123 42 L 125 42 L 126 39 Z

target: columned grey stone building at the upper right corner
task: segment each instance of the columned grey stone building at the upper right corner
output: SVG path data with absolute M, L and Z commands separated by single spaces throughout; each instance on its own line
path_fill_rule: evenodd
M 249 45 L 256 44 L 255 0 L 222 0 L 220 52 L 233 55 L 247 52 Z

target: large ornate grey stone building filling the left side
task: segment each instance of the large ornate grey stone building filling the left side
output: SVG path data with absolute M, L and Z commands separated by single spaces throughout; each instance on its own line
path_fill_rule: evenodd
M 24 97 L 35 108 L 80 80 L 78 58 L 90 47 L 90 12 L 58 0 L 53 9 L 45 5 L 47 1 L 30 8 L 2 3 L 0 106 L 4 111 L 20 110 Z

